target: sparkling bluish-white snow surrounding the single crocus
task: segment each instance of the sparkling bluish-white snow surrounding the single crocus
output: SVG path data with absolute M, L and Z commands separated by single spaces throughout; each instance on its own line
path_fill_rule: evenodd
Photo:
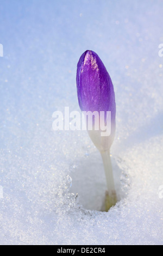
M 1 0 L 1 245 L 163 244 L 162 11 L 159 0 Z M 87 132 L 52 130 L 54 111 L 80 111 L 85 50 L 115 88 L 119 201 L 109 212 Z

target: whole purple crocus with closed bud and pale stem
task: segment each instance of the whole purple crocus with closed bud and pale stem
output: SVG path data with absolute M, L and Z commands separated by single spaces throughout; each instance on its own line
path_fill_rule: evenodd
M 111 112 L 111 124 L 109 124 L 111 130 L 108 136 L 101 136 L 100 127 L 99 130 L 88 130 L 92 142 L 102 155 L 108 184 L 108 197 L 106 197 L 106 201 L 109 200 L 108 208 L 110 208 L 110 206 L 116 203 L 116 193 L 110 161 L 110 147 L 115 136 L 115 93 L 108 71 L 97 53 L 93 51 L 85 51 L 79 59 L 77 65 L 77 94 L 80 109 L 83 112 L 98 112 L 99 117 L 103 119 L 105 124 L 108 120 L 106 113 Z M 104 112 L 103 117 L 100 115 L 101 112 Z

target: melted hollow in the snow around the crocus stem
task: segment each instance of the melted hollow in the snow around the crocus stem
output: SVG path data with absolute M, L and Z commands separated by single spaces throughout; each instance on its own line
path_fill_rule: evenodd
M 119 166 L 120 159 L 111 157 L 118 201 L 128 192 L 129 179 Z M 120 164 L 121 165 L 121 164 Z M 123 163 L 124 165 L 124 163 Z M 78 203 L 86 210 L 103 211 L 106 188 L 105 172 L 99 152 L 79 159 L 70 167 L 72 186 L 70 192 L 78 194 Z

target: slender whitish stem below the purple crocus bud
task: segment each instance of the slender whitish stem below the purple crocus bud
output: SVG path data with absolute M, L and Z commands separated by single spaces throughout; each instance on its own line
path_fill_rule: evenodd
M 105 210 L 108 211 L 111 206 L 116 204 L 117 196 L 115 191 L 114 178 L 112 174 L 110 151 L 101 151 L 101 156 L 103 159 L 106 183 L 108 187 L 108 191 L 106 191 L 105 195 Z

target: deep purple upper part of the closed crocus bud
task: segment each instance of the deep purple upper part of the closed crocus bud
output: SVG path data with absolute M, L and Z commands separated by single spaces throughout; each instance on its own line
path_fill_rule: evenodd
M 115 123 L 114 87 L 102 60 L 93 51 L 85 51 L 79 59 L 77 93 L 82 111 L 111 111 Z

